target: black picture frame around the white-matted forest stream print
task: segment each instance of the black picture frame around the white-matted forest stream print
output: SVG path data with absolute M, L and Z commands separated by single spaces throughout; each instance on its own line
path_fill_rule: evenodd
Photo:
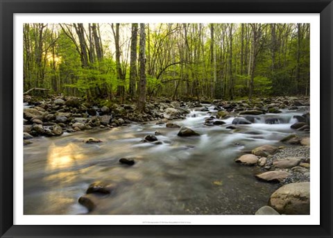
M 0 0 L 1 237 L 332 237 L 331 0 Z M 13 225 L 14 13 L 320 13 L 321 224 L 318 226 L 19 226 Z M 318 80 L 315 78 L 311 80 Z M 319 158 L 316 158 L 319 160 Z M 250 219 L 250 218 L 249 218 Z

